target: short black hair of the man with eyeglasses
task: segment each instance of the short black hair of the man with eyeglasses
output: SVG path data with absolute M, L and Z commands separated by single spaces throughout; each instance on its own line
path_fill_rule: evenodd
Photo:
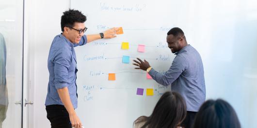
M 69 9 L 65 11 L 61 17 L 61 28 L 64 31 L 64 27 L 74 27 L 74 23 L 84 23 L 87 20 L 86 16 L 78 10 Z

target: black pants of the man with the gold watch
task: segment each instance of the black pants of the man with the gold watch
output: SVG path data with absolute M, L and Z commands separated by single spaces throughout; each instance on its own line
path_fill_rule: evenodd
M 184 119 L 184 121 L 181 123 L 181 127 L 184 128 L 192 128 L 193 126 L 193 121 L 195 118 L 197 112 L 191 112 L 191 111 L 187 111 L 187 115 L 186 118 Z

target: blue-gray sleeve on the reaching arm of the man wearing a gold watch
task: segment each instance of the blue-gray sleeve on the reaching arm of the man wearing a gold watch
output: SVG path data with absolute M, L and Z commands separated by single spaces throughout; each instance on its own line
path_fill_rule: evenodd
M 165 73 L 160 73 L 158 71 L 155 71 L 154 69 L 151 69 L 148 73 L 157 83 L 167 86 L 171 85 L 186 69 L 186 59 L 182 56 L 177 56 L 174 58 L 170 69 Z

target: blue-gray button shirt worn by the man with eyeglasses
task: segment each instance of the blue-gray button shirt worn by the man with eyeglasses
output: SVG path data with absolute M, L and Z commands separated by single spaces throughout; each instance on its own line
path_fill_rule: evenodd
M 74 47 L 87 43 L 86 35 L 81 37 L 80 43 L 71 43 L 62 34 L 57 35 L 51 44 L 48 55 L 48 94 L 45 105 L 63 105 L 57 89 L 67 87 L 73 107 L 78 107 L 77 95 L 77 59 Z

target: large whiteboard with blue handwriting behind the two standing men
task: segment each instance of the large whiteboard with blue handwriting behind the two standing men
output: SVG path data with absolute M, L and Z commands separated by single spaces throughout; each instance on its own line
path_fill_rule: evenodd
M 146 58 L 155 70 L 167 71 L 175 57 L 166 44 L 173 27 L 184 31 L 202 57 L 207 99 L 227 100 L 244 128 L 257 127 L 255 1 L 71 0 L 71 8 L 87 16 L 86 34 L 112 27 L 124 30 L 117 38 L 76 47 L 76 111 L 86 128 L 132 128 L 137 117 L 152 113 L 170 86 L 147 79 L 145 71 L 134 69 L 132 59 Z M 122 42 L 129 43 L 128 50 L 121 49 Z M 145 52 L 137 51 L 138 44 L 145 45 Z M 130 57 L 128 64 L 122 63 L 123 56 Z M 109 73 L 116 73 L 115 81 L 108 80 Z M 144 89 L 143 96 L 136 95 L 137 88 Z M 154 95 L 146 96 L 146 88 L 153 88 Z

